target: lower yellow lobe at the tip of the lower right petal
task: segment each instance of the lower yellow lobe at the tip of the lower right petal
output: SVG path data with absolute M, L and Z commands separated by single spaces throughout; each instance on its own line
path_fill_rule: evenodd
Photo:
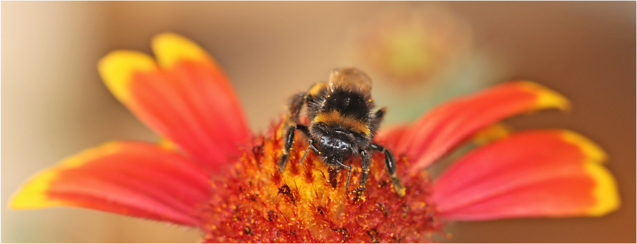
M 617 182 L 608 169 L 600 164 L 590 162 L 585 164 L 584 168 L 595 181 L 593 196 L 596 203 L 587 210 L 587 214 L 598 217 L 619 209 L 620 200 Z

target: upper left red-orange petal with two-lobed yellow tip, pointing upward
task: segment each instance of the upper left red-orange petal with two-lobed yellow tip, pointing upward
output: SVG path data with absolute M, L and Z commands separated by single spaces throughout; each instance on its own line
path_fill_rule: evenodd
M 99 63 L 104 82 L 141 121 L 208 171 L 237 157 L 250 134 L 227 76 L 189 39 L 164 33 L 148 55 L 115 51 Z

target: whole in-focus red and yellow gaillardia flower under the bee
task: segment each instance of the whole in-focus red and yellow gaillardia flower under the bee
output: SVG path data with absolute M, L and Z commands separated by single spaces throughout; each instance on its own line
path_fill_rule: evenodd
M 99 72 L 164 140 L 113 141 L 73 155 L 25 183 L 11 208 L 78 206 L 172 222 L 200 229 L 204 242 L 318 243 L 431 241 L 454 220 L 599 216 L 619 207 L 603 150 L 564 129 L 491 138 L 431 180 L 427 166 L 499 120 L 568 108 L 536 83 L 502 83 L 381 129 L 375 141 L 396 155 L 399 196 L 382 154 L 366 189 L 348 190 L 347 171 L 328 171 L 317 155 L 299 164 L 303 136 L 279 171 L 284 121 L 251 133 L 231 83 L 202 48 L 171 33 L 152 48 L 156 61 L 120 50 Z M 358 182 L 360 160 L 348 163 Z

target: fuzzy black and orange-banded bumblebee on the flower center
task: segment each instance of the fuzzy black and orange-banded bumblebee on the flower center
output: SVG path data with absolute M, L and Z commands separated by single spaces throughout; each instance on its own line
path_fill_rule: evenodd
M 299 113 L 303 105 L 307 106 L 310 122 L 299 123 Z M 308 138 L 308 149 L 301 157 L 303 163 L 306 155 L 312 150 L 335 172 L 347 168 L 347 184 L 350 184 L 352 167 L 345 165 L 352 156 L 361 157 L 362 174 L 360 187 L 365 187 L 371 166 L 371 154 L 385 154 L 387 173 L 399 196 L 404 196 L 404 187 L 396 175 L 396 160 L 387 148 L 372 143 L 376 130 L 385 115 L 385 108 L 373 111 L 375 104 L 371 99 L 371 79 L 355 68 L 335 69 L 329 82 L 315 83 L 307 92 L 300 92 L 292 97 L 290 103 L 290 119 L 285 133 L 283 153 L 278 162 L 281 172 L 287 164 L 289 152 L 294 146 L 294 135 L 297 130 Z

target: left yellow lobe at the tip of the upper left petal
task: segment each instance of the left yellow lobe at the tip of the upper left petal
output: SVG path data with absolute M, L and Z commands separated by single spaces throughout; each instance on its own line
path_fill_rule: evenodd
M 97 64 L 99 74 L 106 87 L 117 99 L 124 102 L 130 97 L 129 84 L 137 72 L 148 72 L 157 69 L 150 55 L 132 50 L 110 52 Z

